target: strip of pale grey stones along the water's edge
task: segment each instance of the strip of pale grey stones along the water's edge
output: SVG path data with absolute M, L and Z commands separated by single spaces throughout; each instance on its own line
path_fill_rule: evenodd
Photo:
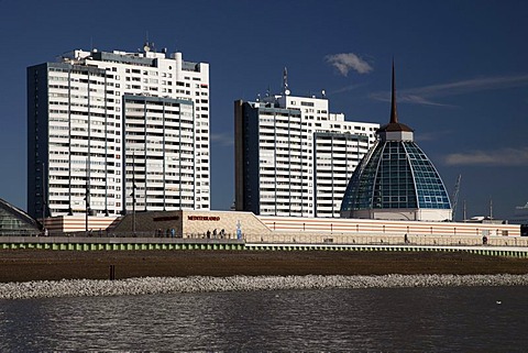
M 63 279 L 0 284 L 0 299 L 326 288 L 528 286 L 528 275 L 231 276 Z

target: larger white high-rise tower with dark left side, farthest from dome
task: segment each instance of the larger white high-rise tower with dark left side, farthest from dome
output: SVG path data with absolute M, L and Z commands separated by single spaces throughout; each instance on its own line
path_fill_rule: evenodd
M 209 65 L 74 51 L 28 68 L 33 217 L 209 209 Z

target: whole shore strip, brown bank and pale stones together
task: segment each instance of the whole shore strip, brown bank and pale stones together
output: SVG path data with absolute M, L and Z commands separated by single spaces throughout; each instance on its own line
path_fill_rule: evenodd
M 463 252 L 0 251 L 0 299 L 432 286 L 528 286 L 528 258 Z

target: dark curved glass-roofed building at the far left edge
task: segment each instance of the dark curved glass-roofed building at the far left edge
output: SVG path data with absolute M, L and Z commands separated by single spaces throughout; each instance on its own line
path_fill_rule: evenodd
M 28 213 L 0 199 L 0 236 L 37 235 L 41 229 Z

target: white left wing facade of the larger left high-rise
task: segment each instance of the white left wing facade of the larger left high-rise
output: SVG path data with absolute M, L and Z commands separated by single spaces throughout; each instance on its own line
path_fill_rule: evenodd
M 53 213 L 116 209 L 120 130 L 114 107 L 107 104 L 107 77 L 87 70 L 48 71 L 48 202 Z

